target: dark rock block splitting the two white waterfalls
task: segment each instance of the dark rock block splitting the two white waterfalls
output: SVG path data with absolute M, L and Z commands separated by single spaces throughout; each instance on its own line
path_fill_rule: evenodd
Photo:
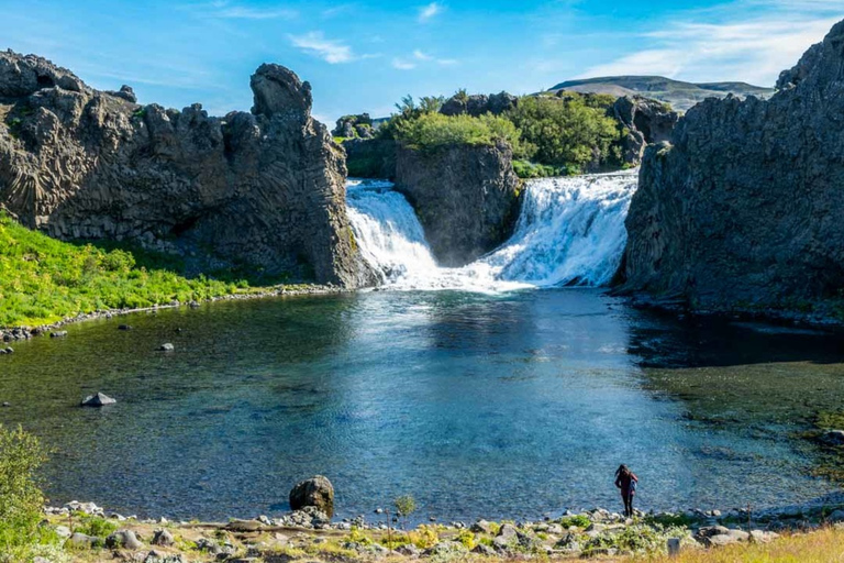
M 415 209 L 441 265 L 466 265 L 510 235 L 520 187 L 512 157 L 506 143 L 398 150 L 396 189 Z

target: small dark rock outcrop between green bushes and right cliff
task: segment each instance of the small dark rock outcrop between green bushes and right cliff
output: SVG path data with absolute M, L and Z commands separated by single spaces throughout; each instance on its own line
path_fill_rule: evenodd
M 633 166 L 642 163 L 647 145 L 670 140 L 680 119 L 679 113 L 666 103 L 641 96 L 619 98 L 609 114 L 626 131 L 621 140 L 621 156 L 624 163 Z

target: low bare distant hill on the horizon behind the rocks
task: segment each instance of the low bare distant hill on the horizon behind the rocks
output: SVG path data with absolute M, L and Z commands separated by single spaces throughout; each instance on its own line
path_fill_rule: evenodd
M 745 82 L 684 82 L 663 76 L 608 76 L 568 80 L 551 88 L 549 91 L 567 90 L 581 93 L 610 93 L 612 96 L 645 96 L 671 104 L 675 110 L 686 111 L 707 98 L 723 98 L 728 93 L 744 97 L 748 95 L 768 98 L 774 88 L 763 88 Z

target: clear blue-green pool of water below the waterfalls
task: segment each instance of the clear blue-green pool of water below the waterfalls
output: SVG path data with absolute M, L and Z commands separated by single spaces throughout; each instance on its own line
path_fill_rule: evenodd
M 221 302 L 68 332 L 0 356 L 0 421 L 55 449 L 54 503 L 271 516 L 320 473 L 341 517 L 412 494 L 420 519 L 537 518 L 618 508 L 619 463 L 645 509 L 835 488 L 793 433 L 844 399 L 836 335 L 678 320 L 590 289 Z M 98 390 L 119 404 L 77 406 Z

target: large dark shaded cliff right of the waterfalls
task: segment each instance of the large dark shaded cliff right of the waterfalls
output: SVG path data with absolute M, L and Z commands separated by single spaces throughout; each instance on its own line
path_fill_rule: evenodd
M 708 309 L 841 296 L 843 45 L 841 22 L 770 100 L 707 100 L 647 148 L 623 289 Z

